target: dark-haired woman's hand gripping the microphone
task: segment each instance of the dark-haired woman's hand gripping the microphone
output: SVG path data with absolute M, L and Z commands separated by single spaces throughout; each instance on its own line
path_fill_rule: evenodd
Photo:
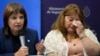
M 28 47 L 22 46 L 19 50 L 14 54 L 14 56 L 27 56 L 28 55 Z

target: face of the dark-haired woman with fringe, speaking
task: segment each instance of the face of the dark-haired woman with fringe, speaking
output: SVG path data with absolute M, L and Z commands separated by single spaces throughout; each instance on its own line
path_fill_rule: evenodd
M 8 25 L 11 29 L 11 32 L 18 32 L 20 29 L 23 28 L 24 25 L 24 15 L 21 13 L 11 14 L 8 20 Z

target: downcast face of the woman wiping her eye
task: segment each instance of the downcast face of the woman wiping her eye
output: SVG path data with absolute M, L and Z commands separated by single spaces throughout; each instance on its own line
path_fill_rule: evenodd
M 78 15 L 65 16 L 64 21 L 65 21 L 65 28 L 67 29 L 68 33 L 75 33 L 76 27 L 73 23 L 80 21 L 79 16 Z

